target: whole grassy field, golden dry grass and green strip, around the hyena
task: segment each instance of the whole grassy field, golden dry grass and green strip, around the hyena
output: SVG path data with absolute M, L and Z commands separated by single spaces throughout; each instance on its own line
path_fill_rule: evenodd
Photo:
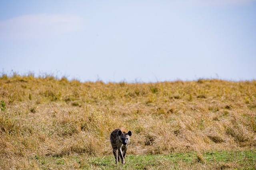
M 256 169 L 256 81 L 0 77 L 0 169 Z M 126 165 L 110 133 L 132 131 Z

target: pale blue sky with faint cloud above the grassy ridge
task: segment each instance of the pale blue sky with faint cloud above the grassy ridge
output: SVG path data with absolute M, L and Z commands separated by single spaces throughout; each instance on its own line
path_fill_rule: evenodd
M 256 0 L 1 0 L 0 72 L 256 79 Z

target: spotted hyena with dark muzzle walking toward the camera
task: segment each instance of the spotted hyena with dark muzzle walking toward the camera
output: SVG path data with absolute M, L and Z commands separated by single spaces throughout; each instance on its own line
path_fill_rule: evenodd
M 115 129 L 111 133 L 110 142 L 113 148 L 116 164 L 118 164 L 120 159 L 122 161 L 122 164 L 125 164 L 124 157 L 130 143 L 130 136 L 132 136 L 132 132 L 127 132 L 124 127 L 121 127 L 120 129 Z

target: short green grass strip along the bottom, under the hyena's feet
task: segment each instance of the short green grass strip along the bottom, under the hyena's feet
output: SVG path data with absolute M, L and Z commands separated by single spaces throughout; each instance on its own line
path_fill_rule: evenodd
M 148 169 L 256 169 L 256 150 L 214 151 L 201 155 L 198 152 L 173 153 L 169 155 L 129 155 L 126 164 L 115 164 L 114 156 L 94 157 L 86 154 L 63 157 L 35 156 L 42 169 L 102 169 L 102 170 L 148 170 Z

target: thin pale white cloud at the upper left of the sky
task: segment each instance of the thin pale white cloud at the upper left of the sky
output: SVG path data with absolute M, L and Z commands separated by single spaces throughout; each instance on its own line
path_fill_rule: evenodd
M 74 15 L 26 15 L 0 21 L 0 39 L 40 39 L 62 35 L 83 27 Z

